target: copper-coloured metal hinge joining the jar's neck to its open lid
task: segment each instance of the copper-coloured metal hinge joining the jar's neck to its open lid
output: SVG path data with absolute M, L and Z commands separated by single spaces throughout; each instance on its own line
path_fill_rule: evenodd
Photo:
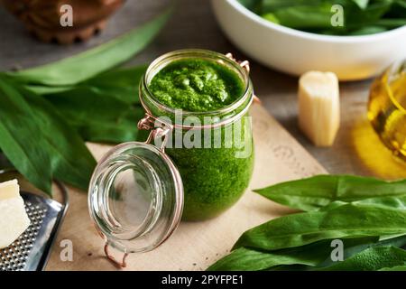
M 157 117 L 153 117 L 149 113 L 145 113 L 145 117 L 138 122 L 138 129 L 151 130 L 145 144 L 152 144 L 155 139 L 161 139 L 161 152 L 164 152 L 165 145 L 168 142 L 168 135 L 173 130 L 173 126 L 162 121 Z

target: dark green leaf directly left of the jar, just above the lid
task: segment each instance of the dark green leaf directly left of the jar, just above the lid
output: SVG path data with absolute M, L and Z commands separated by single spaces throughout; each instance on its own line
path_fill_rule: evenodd
M 86 141 L 123 143 L 144 140 L 146 131 L 140 133 L 137 128 L 144 115 L 143 108 L 115 98 L 112 93 L 78 88 L 44 98 Z

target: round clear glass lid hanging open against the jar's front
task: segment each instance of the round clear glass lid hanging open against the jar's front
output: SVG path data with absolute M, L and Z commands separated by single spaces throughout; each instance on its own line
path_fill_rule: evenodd
M 119 144 L 97 164 L 88 205 L 98 231 L 106 239 L 107 256 L 108 246 L 125 256 L 150 251 L 169 238 L 180 223 L 180 173 L 163 149 L 155 145 Z

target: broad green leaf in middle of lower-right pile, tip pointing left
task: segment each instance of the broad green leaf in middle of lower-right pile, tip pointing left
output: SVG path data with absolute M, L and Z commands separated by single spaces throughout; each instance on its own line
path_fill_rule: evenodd
M 406 234 L 406 210 L 346 204 L 327 211 L 309 211 L 272 219 L 247 230 L 234 248 L 277 250 L 328 238 Z

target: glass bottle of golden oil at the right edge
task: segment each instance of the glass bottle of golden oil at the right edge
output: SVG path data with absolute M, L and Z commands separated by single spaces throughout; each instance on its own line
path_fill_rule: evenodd
M 406 161 L 406 61 L 393 64 L 374 80 L 368 118 L 383 144 Z

